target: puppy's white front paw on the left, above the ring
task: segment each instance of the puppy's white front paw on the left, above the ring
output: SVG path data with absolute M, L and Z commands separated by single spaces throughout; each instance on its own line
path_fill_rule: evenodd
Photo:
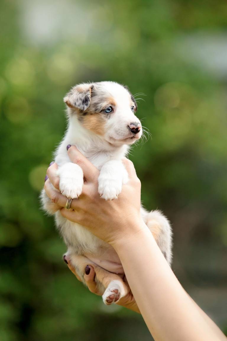
M 66 163 L 59 167 L 59 189 L 67 198 L 78 198 L 83 188 L 83 171 L 74 163 Z

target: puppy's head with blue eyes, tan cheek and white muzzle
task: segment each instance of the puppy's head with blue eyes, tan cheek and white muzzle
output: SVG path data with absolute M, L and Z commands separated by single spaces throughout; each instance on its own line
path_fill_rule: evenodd
M 112 145 L 131 145 L 142 135 L 135 116 L 136 101 L 129 90 L 114 82 L 79 84 L 65 96 L 70 115 Z

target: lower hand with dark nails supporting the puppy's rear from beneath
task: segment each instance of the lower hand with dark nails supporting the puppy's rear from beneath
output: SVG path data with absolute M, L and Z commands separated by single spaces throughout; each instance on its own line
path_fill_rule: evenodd
M 69 270 L 72 271 L 72 273 L 76 276 L 76 278 L 82 282 L 82 279 L 78 276 L 74 266 L 72 266 L 70 262 L 70 257 L 67 255 L 64 256 L 64 261 L 68 265 Z M 86 286 L 90 290 L 91 293 L 96 294 L 98 296 L 101 296 L 102 294 L 98 291 L 97 284 L 95 283 L 95 270 L 93 266 L 87 265 L 84 273 L 84 281 L 86 283 Z M 90 269 L 90 271 L 89 271 Z M 88 272 L 88 274 L 86 274 Z M 124 278 L 124 281 L 127 282 L 126 278 Z M 140 310 L 137 306 L 137 303 L 132 295 L 132 292 L 130 291 L 126 296 L 122 297 L 117 303 L 118 306 L 125 307 L 127 309 L 130 309 L 132 311 L 135 311 L 136 313 L 140 314 Z

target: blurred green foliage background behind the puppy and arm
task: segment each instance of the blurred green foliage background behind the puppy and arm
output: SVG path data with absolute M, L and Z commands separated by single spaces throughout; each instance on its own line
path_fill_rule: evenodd
M 62 99 L 88 80 L 146 94 L 152 138 L 130 155 L 142 201 L 171 220 L 173 270 L 226 331 L 226 1 L 3 0 L 0 19 L 0 340 L 151 340 L 76 280 L 40 210 Z

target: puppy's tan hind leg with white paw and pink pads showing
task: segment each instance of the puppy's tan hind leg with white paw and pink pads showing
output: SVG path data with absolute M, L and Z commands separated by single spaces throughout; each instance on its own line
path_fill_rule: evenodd
M 123 281 L 124 275 L 117 275 L 109 272 L 97 264 L 93 263 L 89 258 L 80 256 L 75 253 L 67 253 L 70 263 L 74 266 L 77 275 L 84 281 L 84 273 L 86 265 L 92 265 L 95 270 L 95 282 L 98 292 L 102 295 L 102 300 L 106 305 L 111 305 L 119 301 L 129 293 L 129 286 Z

